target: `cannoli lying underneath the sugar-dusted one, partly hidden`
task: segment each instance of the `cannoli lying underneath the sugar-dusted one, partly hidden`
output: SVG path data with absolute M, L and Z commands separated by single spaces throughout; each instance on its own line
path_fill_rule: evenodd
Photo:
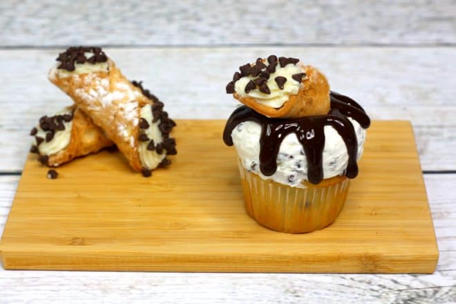
M 114 144 L 75 105 L 54 116 L 41 117 L 30 135 L 34 136 L 30 152 L 37 153 L 38 160 L 49 167 L 58 167 Z

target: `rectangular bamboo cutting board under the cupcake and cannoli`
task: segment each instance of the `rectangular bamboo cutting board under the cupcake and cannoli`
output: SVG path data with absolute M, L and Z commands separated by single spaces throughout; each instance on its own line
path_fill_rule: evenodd
M 118 152 L 46 179 L 30 155 L 0 250 L 6 269 L 432 273 L 439 256 L 409 122 L 373 122 L 333 225 L 281 234 L 243 207 L 224 121 L 182 120 L 179 154 L 142 178 Z

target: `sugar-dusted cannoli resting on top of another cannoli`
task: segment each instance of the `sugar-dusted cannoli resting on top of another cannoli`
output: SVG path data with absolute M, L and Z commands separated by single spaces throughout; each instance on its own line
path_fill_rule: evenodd
M 170 163 L 167 155 L 177 153 L 169 137 L 175 122 L 162 102 L 129 82 L 101 48 L 68 48 L 57 61 L 50 81 L 106 132 L 135 171 L 150 176 Z

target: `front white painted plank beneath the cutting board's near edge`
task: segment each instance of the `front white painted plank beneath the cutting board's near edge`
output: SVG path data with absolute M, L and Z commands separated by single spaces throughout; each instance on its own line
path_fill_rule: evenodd
M 2 208 L 10 205 L 18 180 L 17 176 L 0 177 Z M 0 298 L 33 303 L 61 301 L 61 298 L 71 303 L 134 303 L 146 298 L 153 298 L 155 303 L 453 303 L 456 299 L 456 207 L 451 204 L 454 200 L 451 189 L 456 184 L 456 175 L 425 175 L 425 182 L 441 250 L 435 274 L 186 274 L 1 269 Z M 5 219 L 1 212 L 0 227 Z

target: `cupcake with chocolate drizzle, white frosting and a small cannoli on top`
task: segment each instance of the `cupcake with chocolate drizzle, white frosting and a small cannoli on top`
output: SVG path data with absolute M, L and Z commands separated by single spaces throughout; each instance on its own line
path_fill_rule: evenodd
M 358 175 L 368 115 L 299 59 L 271 55 L 239 70 L 226 89 L 244 105 L 223 140 L 238 153 L 247 213 L 281 232 L 327 227 Z

